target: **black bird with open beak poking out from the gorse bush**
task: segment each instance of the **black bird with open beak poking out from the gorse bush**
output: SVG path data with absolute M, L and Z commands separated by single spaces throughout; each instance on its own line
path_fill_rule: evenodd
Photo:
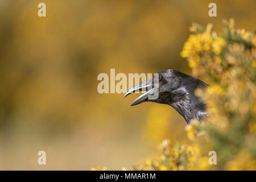
M 156 79 L 157 77 L 154 76 L 151 79 L 144 80 L 125 93 L 124 97 L 134 92 L 148 90 L 133 101 L 131 106 L 146 101 L 168 104 L 184 117 L 188 125 L 191 119 L 196 118 L 201 121 L 208 114 L 205 110 L 205 102 L 195 95 L 196 88 L 207 87 L 208 84 L 174 69 L 159 72 L 158 83 Z M 158 98 L 152 98 L 156 89 L 159 93 Z

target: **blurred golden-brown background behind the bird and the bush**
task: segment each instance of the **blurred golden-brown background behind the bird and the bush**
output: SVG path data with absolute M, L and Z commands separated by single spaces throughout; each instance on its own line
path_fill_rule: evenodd
M 214 18 L 210 2 L 0 0 L 0 169 L 131 169 L 165 138 L 187 142 L 170 106 L 130 107 L 138 94 L 99 94 L 97 76 L 191 74 L 180 51 L 192 22 L 255 27 L 256 1 L 214 1 Z

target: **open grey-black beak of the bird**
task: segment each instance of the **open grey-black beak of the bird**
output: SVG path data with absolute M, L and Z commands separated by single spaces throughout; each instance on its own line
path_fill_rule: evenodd
M 127 90 L 124 97 L 128 96 L 131 93 L 147 91 L 146 93 L 139 96 L 135 101 L 133 101 L 133 103 L 131 103 L 131 106 L 135 106 L 135 105 L 141 104 L 142 102 L 148 101 L 148 97 L 150 97 L 154 94 L 155 87 L 154 87 L 154 83 L 152 83 L 152 80 L 154 81 L 154 78 L 144 80 L 144 81 L 140 82 L 139 84 L 134 85 L 129 90 Z

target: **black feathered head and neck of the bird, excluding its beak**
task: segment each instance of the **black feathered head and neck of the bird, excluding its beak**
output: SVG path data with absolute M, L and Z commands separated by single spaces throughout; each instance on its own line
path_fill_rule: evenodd
M 199 87 L 209 86 L 205 82 L 176 71 L 168 69 L 159 72 L 159 98 L 149 100 L 161 104 L 168 104 L 174 107 L 189 124 L 191 119 L 201 119 L 207 115 L 205 102 L 195 95 L 195 90 Z

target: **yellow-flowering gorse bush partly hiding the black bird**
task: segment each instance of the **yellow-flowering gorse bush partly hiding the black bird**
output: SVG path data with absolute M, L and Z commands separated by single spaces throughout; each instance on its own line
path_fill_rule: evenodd
M 234 28 L 233 19 L 223 23 L 222 34 L 193 23 L 180 53 L 192 75 L 210 85 L 196 90 L 208 117 L 187 126 L 188 144 L 164 140 L 160 156 L 135 170 L 256 169 L 256 36 Z M 209 151 L 216 151 L 217 164 L 209 164 Z

